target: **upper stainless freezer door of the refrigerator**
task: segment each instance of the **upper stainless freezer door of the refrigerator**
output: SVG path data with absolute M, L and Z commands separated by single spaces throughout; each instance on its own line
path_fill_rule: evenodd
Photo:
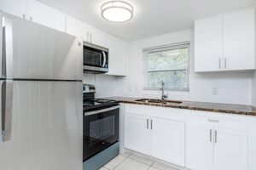
M 5 43 L 13 50 L 13 76 L 9 77 L 82 80 L 83 45 L 79 38 L 9 14 L 3 18 L 12 26 L 6 31 L 12 31 L 13 41 Z

